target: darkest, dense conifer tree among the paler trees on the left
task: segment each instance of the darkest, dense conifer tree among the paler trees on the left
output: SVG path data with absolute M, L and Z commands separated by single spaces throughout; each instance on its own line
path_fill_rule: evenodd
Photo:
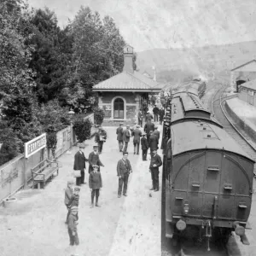
M 61 30 L 55 13 L 48 8 L 34 10 L 30 22 L 33 36 L 29 43 L 35 45 L 30 61 L 30 67 L 37 73 L 35 91 L 39 102 L 48 102 L 66 84 L 73 40 L 68 36 L 68 26 Z

